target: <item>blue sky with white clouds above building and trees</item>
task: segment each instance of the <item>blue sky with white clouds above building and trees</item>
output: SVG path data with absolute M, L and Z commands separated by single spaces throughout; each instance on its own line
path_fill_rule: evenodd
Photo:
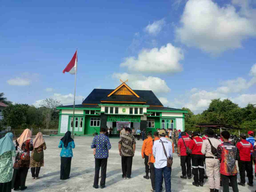
M 256 103 L 253 0 L 1 1 L 1 90 L 12 102 L 72 104 L 62 74 L 78 47 L 76 104 L 93 88 L 153 90 L 165 106 Z

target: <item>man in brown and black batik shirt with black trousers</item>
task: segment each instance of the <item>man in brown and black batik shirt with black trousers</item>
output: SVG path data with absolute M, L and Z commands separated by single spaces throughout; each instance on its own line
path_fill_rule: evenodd
M 118 142 L 119 154 L 122 160 L 122 178 L 130 179 L 132 174 L 132 158 L 135 154 L 136 142 L 130 134 L 130 128 L 125 128 L 126 134 L 120 137 Z

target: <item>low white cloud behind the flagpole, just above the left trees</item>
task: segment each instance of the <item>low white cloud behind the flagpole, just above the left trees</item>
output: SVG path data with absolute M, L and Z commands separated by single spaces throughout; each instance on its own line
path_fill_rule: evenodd
M 74 94 L 71 94 L 71 93 L 66 95 L 63 95 L 60 93 L 54 93 L 52 96 L 50 96 L 50 98 L 60 101 L 60 104 L 62 105 L 72 105 L 74 103 Z M 81 104 L 83 98 L 84 98 L 83 96 L 76 96 L 76 105 Z M 37 100 L 32 105 L 36 107 L 40 107 L 40 105 L 42 104 L 42 101 L 43 100 Z

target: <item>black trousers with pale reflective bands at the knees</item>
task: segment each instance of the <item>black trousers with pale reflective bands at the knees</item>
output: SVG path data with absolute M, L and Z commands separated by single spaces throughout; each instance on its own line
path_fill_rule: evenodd
M 199 184 L 199 182 L 204 182 L 204 155 L 192 154 L 192 173 L 194 175 L 194 182 Z M 198 171 L 199 171 L 199 181 L 198 181 Z

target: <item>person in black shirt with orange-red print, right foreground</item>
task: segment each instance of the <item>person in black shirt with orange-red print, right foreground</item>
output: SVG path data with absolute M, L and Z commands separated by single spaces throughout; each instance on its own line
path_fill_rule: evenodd
M 220 177 L 222 180 L 223 192 L 229 192 L 229 181 L 233 192 L 239 192 L 237 185 L 236 160 L 240 160 L 238 148 L 228 141 L 230 133 L 222 131 L 223 143 L 217 148 L 217 157 L 220 160 Z

